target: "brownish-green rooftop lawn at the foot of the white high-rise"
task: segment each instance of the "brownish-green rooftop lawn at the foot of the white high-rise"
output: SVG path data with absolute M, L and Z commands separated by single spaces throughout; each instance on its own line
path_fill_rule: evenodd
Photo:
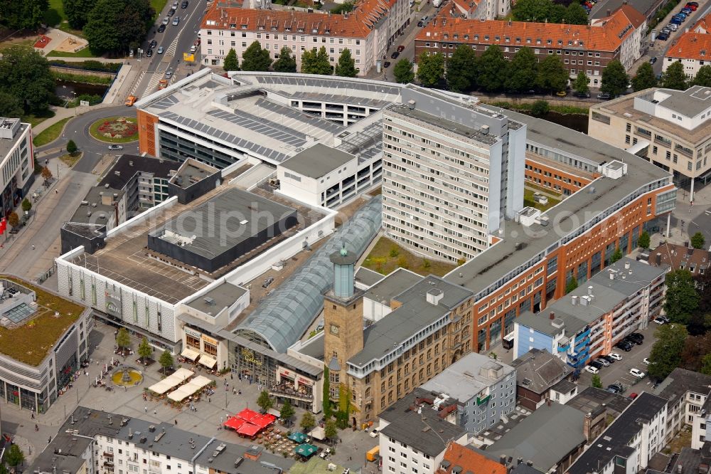
M 398 267 L 407 268 L 420 275 L 442 276 L 449 273 L 456 265 L 440 262 L 439 260 L 429 260 L 417 256 L 405 248 L 400 247 L 395 241 L 387 237 L 380 237 L 375 247 L 370 251 L 368 257 L 363 262 L 365 268 L 370 268 L 378 273 L 387 275 Z

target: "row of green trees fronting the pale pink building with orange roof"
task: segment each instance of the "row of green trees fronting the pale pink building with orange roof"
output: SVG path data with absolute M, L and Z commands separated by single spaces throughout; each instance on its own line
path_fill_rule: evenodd
M 274 70 L 277 73 L 296 73 L 296 60 L 293 57 L 292 50 L 284 46 L 279 51 L 279 57 L 272 62 L 272 56 L 269 50 L 262 49 L 259 41 L 255 41 L 250 46 L 247 46 L 245 53 L 242 54 L 242 64 L 240 65 L 237 58 L 237 52 L 231 48 L 223 63 L 225 70 L 250 70 L 250 71 L 268 71 Z M 355 78 L 360 70 L 355 67 L 355 60 L 351 55 L 351 50 L 346 48 L 338 57 L 338 63 L 334 68 L 331 65 L 331 58 L 326 52 L 326 47 L 321 46 L 319 50 L 316 48 L 311 51 L 301 53 L 301 73 L 305 74 L 336 74 L 344 78 Z

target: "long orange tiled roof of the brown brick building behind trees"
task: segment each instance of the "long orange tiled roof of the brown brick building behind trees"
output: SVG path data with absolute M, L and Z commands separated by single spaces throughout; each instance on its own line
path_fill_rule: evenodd
M 577 48 L 589 51 L 615 51 L 645 21 L 631 6 L 617 9 L 594 26 L 534 23 L 528 21 L 467 20 L 449 18 L 446 11 L 422 28 L 417 41 L 483 43 L 531 48 Z M 474 39 L 474 36 L 477 36 Z M 446 36 L 446 37 L 445 37 Z M 466 36 L 466 38 L 465 38 Z M 509 41 L 506 42 L 506 37 Z M 498 39 L 497 39 L 498 38 Z M 515 38 L 520 38 L 516 42 Z M 530 43 L 527 40 L 530 39 Z M 540 40 L 540 43 L 537 41 Z M 548 41 L 550 40 L 550 43 Z M 562 43 L 558 43 L 558 41 Z

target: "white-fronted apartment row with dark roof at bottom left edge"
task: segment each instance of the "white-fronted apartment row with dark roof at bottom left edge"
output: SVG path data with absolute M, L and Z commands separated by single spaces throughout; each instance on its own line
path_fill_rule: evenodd
M 293 458 L 262 446 L 223 443 L 172 423 L 155 423 L 78 406 L 32 461 L 33 473 L 288 472 Z M 269 467 L 267 467 L 269 466 Z

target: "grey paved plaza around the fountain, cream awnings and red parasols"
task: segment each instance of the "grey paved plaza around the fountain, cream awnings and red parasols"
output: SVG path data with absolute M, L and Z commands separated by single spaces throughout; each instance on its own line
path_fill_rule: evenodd
M 55 436 L 66 417 L 77 407 L 77 403 L 91 409 L 111 411 L 146 421 L 156 421 L 156 423 L 175 423 L 177 421 L 178 428 L 203 436 L 214 436 L 220 441 L 229 441 L 230 443 L 254 444 L 249 439 L 241 438 L 237 433 L 220 428 L 221 421 L 226 419 L 225 416 L 232 416 L 245 408 L 258 410 L 257 396 L 259 396 L 260 389 L 264 389 L 264 387 L 250 384 L 247 380 L 240 381 L 236 374 L 214 376 L 208 374 L 204 368 L 201 369 L 199 365 L 193 367 L 193 365 L 183 364 L 183 367 L 193 370 L 196 375 L 207 376 L 215 380 L 217 384 L 215 395 L 210 397 L 210 401 L 203 397 L 203 400 L 195 404 L 196 411 L 191 411 L 187 405 L 180 410 L 174 409 L 166 404 L 166 400 L 144 401 L 144 388 L 161 379 L 161 374 L 158 372 L 160 365 L 157 363 L 151 364 L 145 369 L 144 381 L 139 386 L 125 390 L 116 387 L 112 391 L 93 387 L 91 384 L 100 374 L 102 364 L 110 363 L 112 357 L 117 357 L 114 355 L 114 331 L 114 327 L 97 323 L 97 327 L 89 338 L 93 348 L 90 355 L 92 364 L 87 368 L 89 376 L 85 376 L 82 372 L 73 387 L 60 396 L 55 404 L 50 406 L 46 414 L 35 416 L 33 419 L 31 411 L 20 409 L 13 404 L 1 404 L 2 432 L 14 434 L 16 442 L 26 454 L 26 463 L 31 463 L 38 452 L 47 446 L 49 437 Z M 138 344 L 138 339 L 132 338 L 134 350 Z M 137 356 L 127 358 L 125 364 L 139 368 L 140 364 L 134 357 Z M 154 356 L 155 359 L 158 357 L 159 354 Z M 225 386 L 225 382 L 228 384 L 227 386 Z M 233 388 L 242 391 L 242 395 L 234 394 Z M 275 408 L 279 409 L 279 407 Z M 294 431 L 298 430 L 298 422 L 303 412 L 301 409 L 296 409 L 292 426 Z M 319 415 L 314 415 L 314 417 L 319 420 Z M 35 424 L 38 426 L 38 431 L 35 431 Z M 282 431 L 289 429 L 285 426 L 279 426 L 279 428 Z M 365 463 L 365 452 L 378 442 L 377 439 L 368 437 L 368 433 L 354 432 L 351 429 L 341 431 L 340 436 L 341 440 L 338 442 L 335 448 L 336 453 L 332 458 L 336 463 L 350 468 L 361 467 Z M 326 447 L 322 443 L 316 444 Z M 373 470 L 375 465 L 368 464 L 370 470 L 376 472 Z

